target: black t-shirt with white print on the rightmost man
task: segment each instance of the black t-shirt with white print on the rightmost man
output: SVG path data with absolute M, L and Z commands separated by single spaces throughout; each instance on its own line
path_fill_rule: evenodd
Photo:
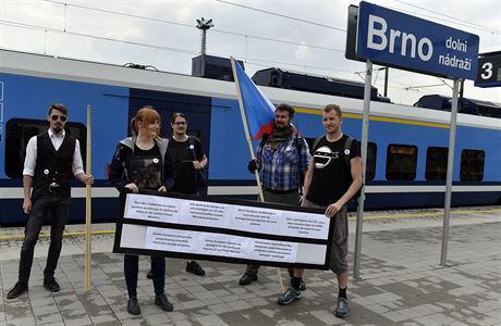
M 337 202 L 346 192 L 351 185 L 351 170 L 346 165 L 344 155 L 350 159 L 361 156 L 358 141 L 352 141 L 349 153 L 344 153 L 344 142 L 347 136 L 330 142 L 322 137 L 318 145 L 311 149 L 314 171 L 306 199 L 319 204 L 329 205 Z

